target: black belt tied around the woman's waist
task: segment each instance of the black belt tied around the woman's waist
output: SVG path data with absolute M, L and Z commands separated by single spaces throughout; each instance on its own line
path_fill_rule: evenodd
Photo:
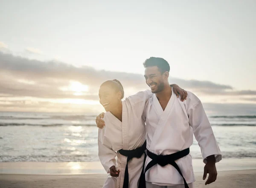
M 135 150 L 119 150 L 119 153 L 123 156 L 127 156 L 127 163 L 125 167 L 125 179 L 124 179 L 124 185 L 123 188 L 128 188 L 129 186 L 129 173 L 128 173 L 128 162 L 136 157 L 140 158 L 143 153 L 145 154 L 145 149 L 146 149 L 146 142 L 139 148 L 136 148 Z M 146 183 L 145 183 L 145 174 L 143 173 L 144 170 L 144 165 L 145 165 L 145 159 L 146 159 L 146 154 L 144 157 L 144 163 L 143 163 L 143 168 L 140 174 L 140 182 L 139 182 L 139 188 L 145 188 Z

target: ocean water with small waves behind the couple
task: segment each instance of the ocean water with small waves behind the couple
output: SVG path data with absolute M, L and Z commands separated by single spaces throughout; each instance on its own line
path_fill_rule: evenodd
M 99 161 L 95 114 L 0 112 L 0 162 Z M 223 158 L 256 157 L 256 115 L 208 116 Z M 194 159 L 201 150 L 194 138 Z

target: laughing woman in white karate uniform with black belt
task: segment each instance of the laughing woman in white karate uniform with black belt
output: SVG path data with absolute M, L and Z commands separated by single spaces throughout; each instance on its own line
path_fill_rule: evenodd
M 184 92 L 176 84 L 172 87 L 176 95 Z M 106 110 L 106 126 L 99 129 L 99 159 L 110 174 L 103 188 L 145 187 L 142 169 L 146 131 L 142 115 L 152 95 L 151 90 L 146 90 L 122 101 L 124 90 L 118 80 L 105 81 L 100 86 L 99 101 Z

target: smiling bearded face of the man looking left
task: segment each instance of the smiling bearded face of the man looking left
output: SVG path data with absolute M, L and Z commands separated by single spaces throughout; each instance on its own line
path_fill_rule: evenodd
M 152 93 L 158 93 L 164 88 L 164 78 L 157 66 L 145 68 L 145 81 Z

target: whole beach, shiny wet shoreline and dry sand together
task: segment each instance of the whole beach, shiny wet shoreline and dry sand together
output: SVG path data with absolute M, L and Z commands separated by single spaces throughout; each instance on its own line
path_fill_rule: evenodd
M 204 185 L 204 163 L 193 159 L 195 188 L 256 188 L 256 158 L 223 159 L 216 182 Z M 102 188 L 100 162 L 0 162 L 0 188 Z

